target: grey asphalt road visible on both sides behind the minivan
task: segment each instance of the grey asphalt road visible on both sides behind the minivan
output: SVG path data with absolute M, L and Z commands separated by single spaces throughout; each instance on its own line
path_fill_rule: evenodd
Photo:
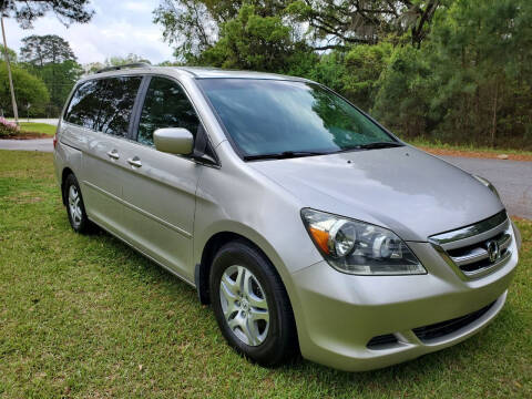
M 52 139 L 0 140 L 0 150 L 52 152 Z M 441 156 L 494 184 L 510 215 L 532 219 L 532 162 Z

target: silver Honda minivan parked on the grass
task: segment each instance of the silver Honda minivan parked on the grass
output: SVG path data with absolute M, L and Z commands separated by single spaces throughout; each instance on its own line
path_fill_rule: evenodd
M 520 234 L 484 178 L 305 79 L 133 66 L 81 80 L 64 108 L 70 224 L 195 287 L 239 354 L 375 369 L 503 307 Z

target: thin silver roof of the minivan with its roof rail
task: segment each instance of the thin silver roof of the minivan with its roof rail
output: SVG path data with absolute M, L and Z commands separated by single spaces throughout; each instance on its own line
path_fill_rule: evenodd
M 152 66 L 152 65 L 145 65 L 145 66 L 137 66 L 137 68 L 131 68 L 125 65 L 124 68 L 116 68 L 115 70 L 102 70 L 99 71 L 94 75 L 85 76 L 85 79 L 89 78 L 95 78 L 95 76 L 102 76 L 102 75 L 114 75 L 114 74 L 120 74 L 121 72 L 133 72 L 136 71 L 139 73 L 145 73 L 147 71 L 150 72 L 155 72 L 155 71 L 164 71 L 164 70 L 178 70 L 178 71 L 184 71 L 190 73 L 194 78 L 238 78 L 238 79 L 275 79 L 275 80 L 301 80 L 301 81 L 307 81 L 306 79 L 303 78 L 297 78 L 297 76 L 287 76 L 287 75 L 282 75 L 282 74 L 276 74 L 276 73 L 266 73 L 266 72 L 254 72 L 254 71 L 236 71 L 236 70 L 224 70 L 219 68 L 208 68 L 208 66 Z

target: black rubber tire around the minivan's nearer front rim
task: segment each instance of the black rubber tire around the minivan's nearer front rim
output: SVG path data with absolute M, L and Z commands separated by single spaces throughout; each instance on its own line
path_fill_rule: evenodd
M 244 266 L 252 272 L 259 283 L 259 289 L 266 295 L 269 325 L 259 345 L 250 346 L 238 338 L 224 316 L 221 280 L 224 273 L 231 272 L 229 268 L 235 265 Z M 285 364 L 299 354 L 294 313 L 285 286 L 274 266 L 258 249 L 244 241 L 224 245 L 213 259 L 209 291 L 219 329 L 229 346 L 238 354 L 266 367 Z

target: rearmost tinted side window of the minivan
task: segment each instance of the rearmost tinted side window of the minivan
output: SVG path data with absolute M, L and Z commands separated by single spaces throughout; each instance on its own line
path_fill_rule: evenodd
M 64 120 L 79 126 L 94 129 L 100 111 L 101 80 L 83 82 L 75 90 Z

